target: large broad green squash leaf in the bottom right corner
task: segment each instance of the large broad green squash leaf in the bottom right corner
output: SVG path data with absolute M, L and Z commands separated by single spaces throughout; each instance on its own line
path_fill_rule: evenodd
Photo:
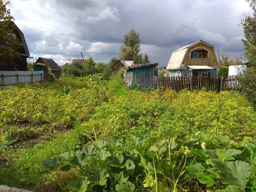
M 220 173 L 220 179 L 223 184 L 229 184 L 239 187 L 244 191 L 250 176 L 250 165 L 243 161 L 229 161 L 225 163 L 230 172 Z

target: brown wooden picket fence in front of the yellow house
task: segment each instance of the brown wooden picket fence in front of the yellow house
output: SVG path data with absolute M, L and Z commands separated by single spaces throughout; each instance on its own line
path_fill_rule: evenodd
M 235 76 L 226 76 L 226 77 L 162 77 L 154 76 L 153 77 L 153 90 L 158 87 L 162 89 L 173 89 L 176 92 L 179 92 L 182 89 L 188 89 L 189 91 L 193 90 L 202 90 L 206 91 L 224 91 L 230 90 L 235 87 L 238 83 Z

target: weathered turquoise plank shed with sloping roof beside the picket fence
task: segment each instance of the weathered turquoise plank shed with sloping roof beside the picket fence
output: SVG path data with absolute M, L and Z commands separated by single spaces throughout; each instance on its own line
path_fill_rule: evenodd
M 139 89 L 145 91 L 146 88 L 153 88 L 153 76 L 158 63 L 137 64 L 124 68 L 124 82 L 127 86 L 140 84 Z

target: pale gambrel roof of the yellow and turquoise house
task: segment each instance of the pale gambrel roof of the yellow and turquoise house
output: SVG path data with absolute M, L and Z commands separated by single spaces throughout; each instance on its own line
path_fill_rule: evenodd
M 205 45 L 207 45 L 207 46 L 209 46 L 213 49 L 214 55 L 215 55 L 216 60 L 218 62 L 218 66 L 220 66 L 214 46 L 200 40 L 200 41 L 197 41 L 193 44 L 190 44 L 190 45 L 187 45 L 187 46 L 182 47 L 180 49 L 177 49 L 176 51 L 173 51 L 172 56 L 171 56 L 171 58 L 168 62 L 168 65 L 167 65 L 166 69 L 181 69 L 181 68 L 186 67 L 186 66 L 183 65 L 183 61 L 185 59 L 185 56 L 187 55 L 188 49 L 192 46 L 195 46 L 195 45 L 199 44 L 199 43 L 205 44 Z

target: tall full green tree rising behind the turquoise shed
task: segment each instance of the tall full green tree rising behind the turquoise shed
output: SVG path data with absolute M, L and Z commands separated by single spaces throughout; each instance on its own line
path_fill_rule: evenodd
M 121 45 L 118 59 L 121 61 L 133 61 L 134 64 L 142 62 L 142 55 L 139 54 L 141 40 L 135 29 L 124 35 L 124 45 Z

